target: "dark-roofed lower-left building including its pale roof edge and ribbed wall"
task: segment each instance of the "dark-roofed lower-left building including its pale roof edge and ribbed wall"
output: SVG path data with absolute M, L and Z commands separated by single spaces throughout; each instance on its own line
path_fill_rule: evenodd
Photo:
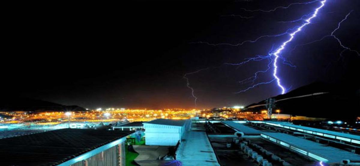
M 125 165 L 133 131 L 61 129 L 0 139 L 3 166 Z

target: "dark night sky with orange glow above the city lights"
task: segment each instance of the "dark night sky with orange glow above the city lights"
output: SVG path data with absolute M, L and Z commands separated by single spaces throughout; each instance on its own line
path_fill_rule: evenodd
M 0 62 L 1 95 L 48 100 L 86 108 L 195 107 L 185 73 L 198 97 L 198 108 L 247 105 L 279 94 L 275 83 L 244 93 L 251 86 L 238 81 L 266 69 L 267 61 L 237 67 L 244 58 L 266 55 L 287 35 L 267 37 L 241 46 L 262 35 L 283 33 L 301 22 L 279 23 L 311 13 L 319 3 L 293 5 L 276 1 L 135 1 L 119 4 L 14 4 L 3 21 L 3 54 Z M 345 15 L 354 10 L 335 35 L 343 45 L 360 50 L 360 3 L 328 0 L 314 23 L 299 32 L 288 48 L 329 35 Z M 221 17 L 221 15 L 243 15 Z M 289 49 L 288 49 L 289 50 Z M 360 58 L 328 37 L 299 46 L 282 56 L 296 68 L 279 65 L 279 75 L 289 90 L 315 81 L 357 85 Z M 271 72 L 256 83 L 272 79 Z

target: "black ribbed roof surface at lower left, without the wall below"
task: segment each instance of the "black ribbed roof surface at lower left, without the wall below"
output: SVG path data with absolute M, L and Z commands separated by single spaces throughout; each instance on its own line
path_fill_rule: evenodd
M 60 129 L 0 139 L 1 165 L 58 165 L 134 131 Z

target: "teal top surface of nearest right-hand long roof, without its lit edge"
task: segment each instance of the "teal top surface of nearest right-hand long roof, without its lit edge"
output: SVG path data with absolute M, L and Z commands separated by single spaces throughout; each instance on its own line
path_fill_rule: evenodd
M 296 148 L 302 149 L 306 152 L 318 155 L 329 160 L 327 163 L 340 162 L 345 159 L 349 160 L 360 160 L 360 155 L 343 151 L 341 149 L 329 147 L 320 143 L 312 142 L 310 140 L 298 138 L 296 136 L 284 134 L 284 133 L 267 133 L 263 132 L 262 134 L 280 140 L 281 142 L 292 145 Z

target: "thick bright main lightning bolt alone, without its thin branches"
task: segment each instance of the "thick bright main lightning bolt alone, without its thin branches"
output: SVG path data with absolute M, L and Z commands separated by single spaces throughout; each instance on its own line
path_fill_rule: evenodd
M 276 79 L 276 82 L 278 84 L 278 86 L 280 87 L 281 89 L 281 94 L 284 94 L 286 92 L 285 88 L 283 85 L 281 85 L 281 82 L 280 82 L 280 78 L 278 77 L 277 75 L 277 72 L 278 72 L 278 66 L 277 66 L 277 61 L 278 61 L 278 58 L 279 58 L 279 54 L 281 53 L 282 50 L 285 49 L 285 46 L 288 44 L 288 42 L 291 42 L 293 39 L 294 39 L 294 36 L 296 35 L 296 33 L 300 32 L 302 30 L 303 27 L 305 27 L 306 25 L 310 24 L 310 21 L 312 18 L 315 18 L 316 15 L 318 14 L 318 11 L 323 8 L 323 6 L 325 5 L 325 2 L 326 0 L 323 0 L 323 1 L 320 1 L 321 5 L 315 9 L 315 12 L 312 14 L 311 17 L 309 17 L 308 19 L 305 20 L 305 23 L 303 23 L 300 27 L 297 28 L 296 31 L 290 33 L 290 38 L 283 42 L 283 44 L 273 53 L 273 55 L 275 56 L 274 58 L 274 72 L 273 72 L 273 76 L 274 78 Z

